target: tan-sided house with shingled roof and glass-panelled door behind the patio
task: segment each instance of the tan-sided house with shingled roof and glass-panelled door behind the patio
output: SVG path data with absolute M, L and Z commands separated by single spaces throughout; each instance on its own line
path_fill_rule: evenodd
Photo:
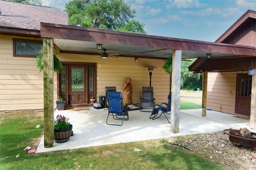
M 43 44 L 40 22 L 68 25 L 68 14 L 51 7 L 1 0 L 0 8 L 0 111 L 43 109 L 43 73 L 35 65 L 38 50 Z M 131 47 L 128 57 L 119 55 L 104 59 L 99 54 L 103 50 L 97 50 L 96 44 L 75 43 L 74 48 L 69 43 L 54 40 L 55 51 L 59 52 L 58 58 L 64 66 L 61 74 L 54 74 L 54 100 L 61 96 L 67 105 L 90 104 L 92 96 L 105 96 L 106 86 L 116 86 L 118 91 L 122 91 L 125 79 L 131 78 L 133 102 L 138 102 L 142 86 L 149 86 L 146 66 L 155 66 L 152 86 L 156 102 L 166 101 L 170 74 L 162 70 L 162 65 L 163 59 L 171 53 L 160 58 L 150 55 L 148 58 L 137 57 L 135 53 L 141 53 L 141 50 Z M 102 48 L 106 48 L 108 54 L 122 54 L 123 50 L 114 51 L 119 47 L 107 43 Z M 84 53 L 83 49 L 87 52 Z

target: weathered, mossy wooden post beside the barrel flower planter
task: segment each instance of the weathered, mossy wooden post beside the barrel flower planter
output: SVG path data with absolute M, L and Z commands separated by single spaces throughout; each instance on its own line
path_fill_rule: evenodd
M 53 147 L 53 39 L 43 38 L 44 147 Z

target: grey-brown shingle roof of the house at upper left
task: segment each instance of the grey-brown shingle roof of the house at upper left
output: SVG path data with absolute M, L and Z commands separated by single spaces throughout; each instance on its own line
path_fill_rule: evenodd
M 0 0 L 0 26 L 40 30 L 40 22 L 68 24 L 68 13 L 56 8 Z

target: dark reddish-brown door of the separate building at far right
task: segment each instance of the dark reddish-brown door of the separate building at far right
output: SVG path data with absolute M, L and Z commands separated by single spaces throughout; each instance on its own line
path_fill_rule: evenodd
M 252 76 L 237 74 L 236 113 L 250 116 Z

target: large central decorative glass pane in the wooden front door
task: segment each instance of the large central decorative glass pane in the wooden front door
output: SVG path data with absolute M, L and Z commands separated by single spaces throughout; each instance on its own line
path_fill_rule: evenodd
M 84 68 L 71 68 L 71 91 L 84 91 Z

